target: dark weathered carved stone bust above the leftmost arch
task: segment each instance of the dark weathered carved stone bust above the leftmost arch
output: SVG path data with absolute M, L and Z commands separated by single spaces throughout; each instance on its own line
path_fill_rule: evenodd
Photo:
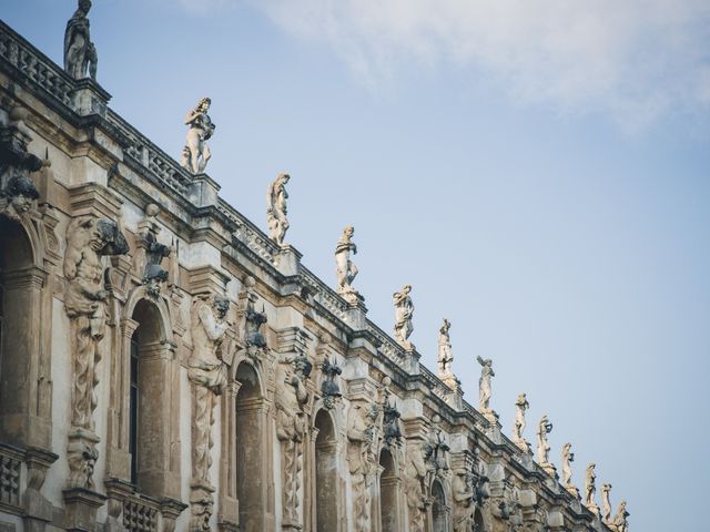
M 27 151 L 32 136 L 26 117 L 27 111 L 13 108 L 10 123 L 0 129 L 0 215 L 14 221 L 40 197 L 30 173 L 40 170 L 42 161 Z

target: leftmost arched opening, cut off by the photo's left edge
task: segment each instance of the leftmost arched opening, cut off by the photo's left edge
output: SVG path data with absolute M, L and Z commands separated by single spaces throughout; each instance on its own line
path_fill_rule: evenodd
M 0 217 L 0 441 L 20 447 L 38 393 L 41 286 L 27 233 Z

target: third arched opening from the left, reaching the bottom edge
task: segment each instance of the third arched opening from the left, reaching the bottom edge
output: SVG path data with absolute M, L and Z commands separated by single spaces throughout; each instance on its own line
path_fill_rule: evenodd
M 236 369 L 241 383 L 236 393 L 236 497 L 240 503 L 240 531 L 265 530 L 266 474 L 263 397 L 258 376 L 248 364 Z

